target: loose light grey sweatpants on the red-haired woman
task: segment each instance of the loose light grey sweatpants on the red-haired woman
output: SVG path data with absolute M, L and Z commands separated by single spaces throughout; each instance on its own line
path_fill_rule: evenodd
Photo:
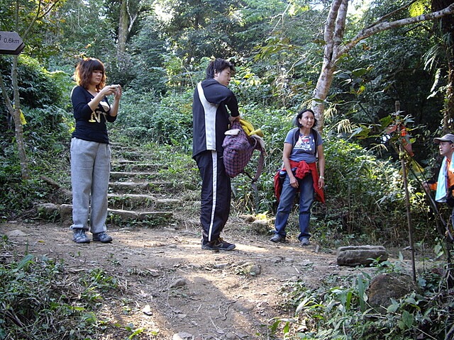
M 105 232 L 107 189 L 111 169 L 109 144 L 71 140 L 72 226 L 71 229 Z M 91 201 L 91 209 L 90 209 Z

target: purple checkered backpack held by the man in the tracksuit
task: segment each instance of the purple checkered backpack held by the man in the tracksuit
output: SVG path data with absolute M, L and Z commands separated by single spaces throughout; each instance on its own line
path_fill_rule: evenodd
M 226 168 L 227 176 L 233 178 L 238 174 L 244 172 L 244 168 L 248 165 L 250 158 L 253 155 L 255 149 L 260 151 L 260 159 L 258 164 L 258 169 L 253 179 L 253 182 L 257 181 L 262 173 L 263 162 L 264 162 L 264 150 L 260 146 L 258 140 L 254 137 L 249 137 L 241 128 L 241 124 L 235 120 L 231 123 L 231 130 L 238 129 L 240 132 L 238 135 L 226 135 L 224 137 L 222 147 L 224 167 Z

